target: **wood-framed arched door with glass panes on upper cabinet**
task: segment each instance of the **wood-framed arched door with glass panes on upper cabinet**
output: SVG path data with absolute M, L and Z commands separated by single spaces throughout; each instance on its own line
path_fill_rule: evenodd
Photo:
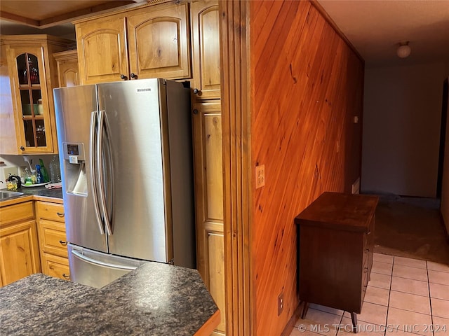
M 42 48 L 10 48 L 19 153 L 53 153 Z

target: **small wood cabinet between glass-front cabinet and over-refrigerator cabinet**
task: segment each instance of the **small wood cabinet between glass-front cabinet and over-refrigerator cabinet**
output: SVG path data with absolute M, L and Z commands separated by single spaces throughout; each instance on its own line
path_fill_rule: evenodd
M 78 54 L 76 49 L 55 52 L 53 57 L 58 64 L 59 87 L 79 85 Z

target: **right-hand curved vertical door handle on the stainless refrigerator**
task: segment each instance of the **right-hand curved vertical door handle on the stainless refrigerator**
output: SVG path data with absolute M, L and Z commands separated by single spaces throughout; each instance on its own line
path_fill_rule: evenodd
M 97 133 L 97 175 L 98 175 L 98 181 L 100 186 L 100 207 L 102 209 L 103 214 L 103 221 L 105 221 L 105 227 L 107 235 L 112 235 L 112 225 L 111 225 L 111 218 L 109 218 L 109 211 L 107 209 L 107 200 L 106 200 L 106 192 L 105 192 L 105 175 L 103 172 L 103 154 L 105 151 L 105 148 L 103 147 L 103 141 L 105 138 L 105 130 L 106 130 L 106 140 L 108 141 L 109 148 L 106 148 L 107 151 L 109 151 L 108 159 L 110 160 L 110 143 L 109 143 L 109 130 L 108 130 L 108 124 L 106 119 L 106 113 L 105 111 L 99 111 L 98 116 L 98 133 Z M 111 184 L 111 190 L 109 191 L 109 195 L 111 197 L 114 197 L 114 176 L 112 176 L 112 165 L 111 162 L 107 162 L 109 164 L 109 180 L 112 181 Z M 114 204 L 114 200 L 112 200 L 112 204 Z M 112 217 L 112 214 L 111 214 Z

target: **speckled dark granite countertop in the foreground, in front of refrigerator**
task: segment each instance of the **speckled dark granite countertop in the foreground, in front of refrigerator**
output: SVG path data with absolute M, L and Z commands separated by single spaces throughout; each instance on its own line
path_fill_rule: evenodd
M 195 269 L 158 262 L 100 289 L 43 274 L 0 288 L 0 335 L 194 335 L 219 314 Z

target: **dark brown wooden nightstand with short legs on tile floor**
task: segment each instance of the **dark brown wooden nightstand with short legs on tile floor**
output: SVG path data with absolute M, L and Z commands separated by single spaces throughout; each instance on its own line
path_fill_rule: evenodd
M 302 318 L 309 303 L 356 314 L 373 266 L 378 197 L 323 193 L 295 218 Z

